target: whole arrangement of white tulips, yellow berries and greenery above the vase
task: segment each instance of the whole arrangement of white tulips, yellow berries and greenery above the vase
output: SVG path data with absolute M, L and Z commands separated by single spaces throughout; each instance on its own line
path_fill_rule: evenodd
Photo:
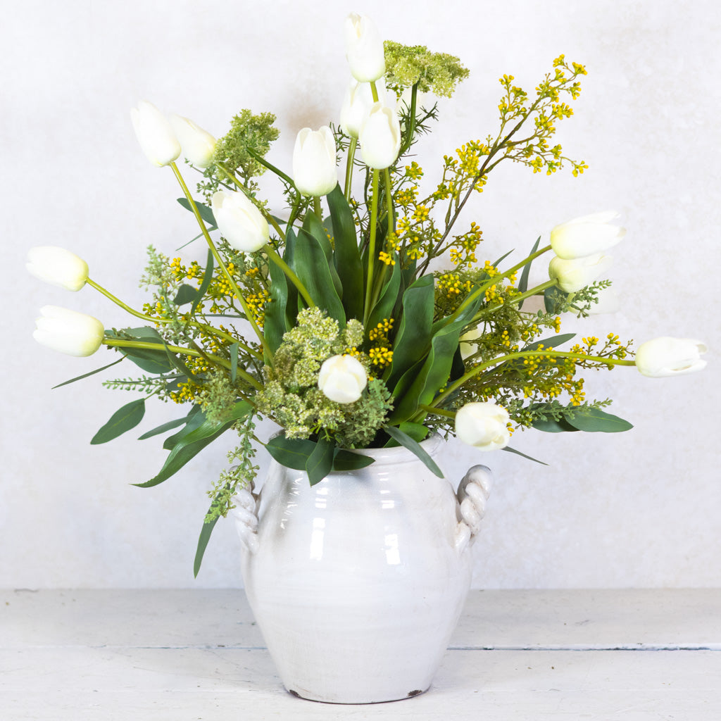
M 517 428 L 631 428 L 605 410 L 609 399 L 585 396 L 580 371 L 635 366 L 661 377 L 704 366 L 706 349 L 696 340 L 650 340 L 634 356 L 629 342 L 611 334 L 560 350 L 573 340 L 560 332 L 562 315 L 585 317 L 608 293 L 606 252 L 625 233 L 613 224 L 615 213 L 560 224 L 548 244 L 539 238 L 515 262 L 505 262 L 510 253 L 479 262 L 482 230 L 462 220 L 469 198 L 502 161 L 534 173 L 583 173 L 585 163 L 554 144 L 557 124 L 572 115 L 567 102 L 580 94 L 583 66 L 559 56 L 532 93 L 503 76 L 495 135 L 443 156 L 426 187 L 412 149 L 438 119 L 434 97 L 451 97 L 469 71 L 446 53 L 384 43 L 371 20 L 356 14 L 345 21 L 345 40 L 353 79 L 340 122 L 298 133 L 290 174 L 267 160 L 278 138 L 271 113 L 242 110 L 216 140 L 149 102 L 133 109 L 143 153 L 172 169 L 180 205 L 198 225 L 193 240 L 208 246 L 204 265 L 149 247 L 142 283 L 151 300 L 143 309 L 92 280 L 87 263 L 68 250 L 30 251 L 33 275 L 68 291 L 92 286 L 142 323 L 105 329 L 76 311 L 41 310 L 38 342 L 78 356 L 105 345 L 119 355 L 110 366 L 129 361 L 142 371 L 105 382 L 141 397 L 92 443 L 136 428 L 151 397 L 189 406 L 141 436 L 169 433 L 169 454 L 138 486 L 158 485 L 222 433 L 238 434 L 231 467 L 209 491 L 196 574 L 213 526 L 257 470 L 260 417 L 282 429 L 262 445 L 280 464 L 304 470 L 311 485 L 372 462 L 354 450 L 393 445 L 441 475 L 421 445 L 431 433 L 523 456 L 509 446 Z M 181 155 L 200 173 L 195 193 L 176 164 Z M 282 188 L 282 213 L 260 197 L 257 178 L 265 172 Z M 531 264 L 547 254 L 548 280 L 529 288 Z M 439 270 L 443 261 L 450 267 Z M 542 309 L 524 307 L 533 296 Z

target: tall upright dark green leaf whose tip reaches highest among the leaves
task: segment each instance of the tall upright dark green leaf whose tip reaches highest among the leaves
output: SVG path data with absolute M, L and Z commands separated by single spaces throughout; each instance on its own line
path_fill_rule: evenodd
M 343 288 L 342 301 L 348 318 L 363 318 L 363 262 L 358 250 L 353 212 L 340 189 L 335 187 L 326 196 L 335 243 L 333 262 Z

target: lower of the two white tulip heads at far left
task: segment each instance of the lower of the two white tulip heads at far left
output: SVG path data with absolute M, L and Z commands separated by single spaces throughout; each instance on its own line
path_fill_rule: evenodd
M 41 345 L 83 357 L 100 348 L 105 329 L 97 318 L 58 306 L 43 306 L 32 337 Z

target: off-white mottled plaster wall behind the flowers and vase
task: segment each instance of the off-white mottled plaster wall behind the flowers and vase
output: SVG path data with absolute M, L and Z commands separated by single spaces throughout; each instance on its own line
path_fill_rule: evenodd
M 150 99 L 216 136 L 244 107 L 275 112 L 282 135 L 272 159 L 288 168 L 298 129 L 337 117 L 347 77 L 342 21 L 353 9 L 371 14 L 385 37 L 454 53 L 471 70 L 454 99 L 442 102 L 438 130 L 419 145 L 427 177 L 443 153 L 495 131 L 502 74 L 532 91 L 559 53 L 585 63 L 583 94 L 558 138 L 590 169 L 573 178 L 499 167 L 466 211 L 484 231 L 482 257 L 521 252 L 554 224 L 616 208 L 628 228 L 614 254 L 623 309 L 580 327 L 583 335 L 613 331 L 637 343 L 699 337 L 710 348 L 703 373 L 678 379 L 645 379 L 632 368 L 591 373 L 589 395 L 613 397 L 612 411 L 635 428 L 514 437 L 516 448 L 549 466 L 451 444 L 442 461 L 449 476 L 459 479 L 477 462 L 497 476 L 474 585 L 721 585 L 715 2 L 4 4 L 0 587 L 242 583 L 229 521 L 216 526 L 193 579 L 205 492 L 224 448 L 206 449 L 144 490 L 130 484 L 154 475 L 165 451 L 157 439 L 135 438 L 180 415 L 176 408 L 156 407 L 138 433 L 89 446 L 132 397 L 102 389 L 101 376 L 50 390 L 112 356 L 74 359 L 40 348 L 31 337 L 37 309 L 67 306 L 106 327 L 128 318 L 91 288 L 74 295 L 30 278 L 25 254 L 38 244 L 72 249 L 94 279 L 140 306 L 146 245 L 171 253 L 195 229 L 174 200 L 172 173 L 138 149 L 129 108 Z M 205 257 L 200 248 L 189 257 L 194 252 Z

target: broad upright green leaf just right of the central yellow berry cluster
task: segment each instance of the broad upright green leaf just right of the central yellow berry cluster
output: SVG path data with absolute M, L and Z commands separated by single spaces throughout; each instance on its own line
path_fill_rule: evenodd
M 387 381 L 393 388 L 409 368 L 415 366 L 430 346 L 433 327 L 433 275 L 423 275 L 403 293 L 403 311 L 393 343 L 393 361 Z

